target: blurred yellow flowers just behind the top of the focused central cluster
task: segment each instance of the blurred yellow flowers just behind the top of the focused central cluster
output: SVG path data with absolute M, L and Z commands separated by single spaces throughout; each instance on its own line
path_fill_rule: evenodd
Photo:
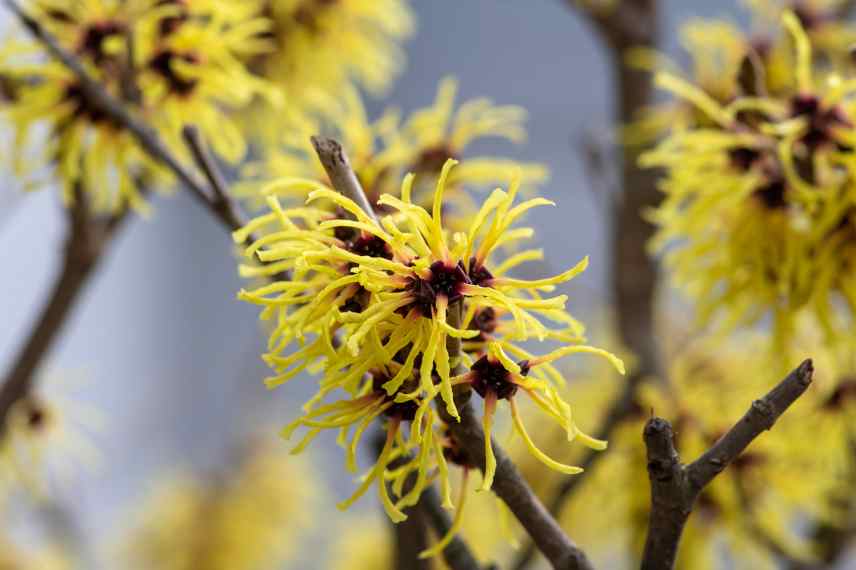
M 280 137 L 282 144 L 271 145 L 264 160 L 250 164 L 246 173 L 257 180 L 293 177 L 327 183 L 310 137 L 332 131 L 349 149 L 351 165 L 370 203 L 377 204 L 383 194 L 399 196 L 400 180 L 407 172 L 414 172 L 418 186 L 413 189 L 413 201 L 429 209 L 437 176 L 447 159 L 460 158 L 473 142 L 485 138 L 522 142 L 526 137 L 523 109 L 497 106 L 481 98 L 456 106 L 456 92 L 455 80 L 446 78 L 430 106 L 418 109 L 403 121 L 395 109 L 388 109 L 372 121 L 356 88 L 345 87 L 335 94 L 313 91 L 307 97 L 307 115 L 303 120 L 286 129 Z M 453 206 L 446 213 L 447 224 L 452 229 L 465 229 L 466 217 L 477 211 L 477 204 L 463 191 L 465 188 L 483 189 L 499 184 L 515 169 L 520 170 L 526 187 L 547 178 L 547 169 L 541 164 L 494 156 L 468 157 L 446 181 L 446 199 Z M 244 183 L 238 195 L 258 202 L 260 185 Z M 293 198 L 302 202 L 306 189 L 294 190 Z

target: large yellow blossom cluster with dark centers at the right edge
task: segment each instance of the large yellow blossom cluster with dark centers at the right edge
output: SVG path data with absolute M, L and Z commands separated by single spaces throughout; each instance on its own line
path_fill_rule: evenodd
M 721 34 L 725 89 L 659 73 L 693 113 L 643 158 L 665 173 L 652 246 L 702 321 L 730 330 L 772 318 L 779 350 L 800 312 L 835 339 L 856 310 L 856 82 L 849 63 L 812 49 L 805 18 L 785 11 L 786 33 L 763 41 Z

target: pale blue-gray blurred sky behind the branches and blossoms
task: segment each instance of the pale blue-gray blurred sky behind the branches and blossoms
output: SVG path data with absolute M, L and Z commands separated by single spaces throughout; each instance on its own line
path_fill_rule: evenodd
M 736 18 L 734 2 L 671 0 L 667 21 Z M 488 96 L 529 110 L 529 143 L 488 144 L 508 156 L 546 163 L 543 194 L 558 208 L 532 217 L 547 258 L 567 266 L 592 256 L 589 271 L 566 288 L 572 312 L 586 316 L 606 299 L 605 228 L 574 145 L 585 129 L 608 124 L 610 78 L 604 52 L 559 0 L 421 0 L 408 67 L 385 102 L 405 111 L 428 104 L 452 74 L 462 99 Z M 4 22 L 8 24 L 8 22 Z M 674 35 L 664 34 L 674 49 Z M 380 104 L 372 104 L 375 110 Z M 8 176 L 8 175 L 7 175 Z M 94 436 L 103 465 L 77 471 L 63 496 L 90 535 L 121 526 L 165 466 L 216 469 L 235 430 L 260 419 L 280 425 L 308 391 L 299 382 L 275 393 L 261 385 L 262 335 L 254 307 L 235 300 L 229 237 L 184 194 L 155 200 L 149 221 L 122 232 L 51 354 L 52 385 L 101 408 Z M 17 196 L 0 185 L 0 369 L 35 318 L 57 270 L 62 223 L 55 192 Z M 86 381 L 69 382 L 68 376 Z M 252 410 L 252 414 L 248 413 Z M 350 482 L 340 452 L 317 451 L 338 497 Z M 360 508 L 373 510 L 371 498 Z

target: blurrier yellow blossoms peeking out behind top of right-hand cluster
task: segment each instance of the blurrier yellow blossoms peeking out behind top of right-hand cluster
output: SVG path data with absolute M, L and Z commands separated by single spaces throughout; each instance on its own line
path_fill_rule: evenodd
M 788 98 L 795 86 L 796 54 L 791 37 L 782 33 L 783 13 L 791 10 L 813 46 L 815 70 L 851 66 L 850 48 L 856 26 L 842 18 L 846 0 L 747 0 L 755 21 L 752 32 L 727 20 L 693 18 L 678 37 L 689 58 L 687 80 L 720 105 L 759 94 Z M 683 75 L 681 66 L 658 51 L 629 50 L 628 64 L 650 72 Z M 710 116 L 692 101 L 657 103 L 624 128 L 630 144 L 648 144 L 673 130 L 711 126 Z

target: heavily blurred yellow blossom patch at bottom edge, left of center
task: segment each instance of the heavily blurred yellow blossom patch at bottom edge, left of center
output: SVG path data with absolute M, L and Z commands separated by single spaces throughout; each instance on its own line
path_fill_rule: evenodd
M 305 461 L 268 442 L 250 444 L 239 457 L 216 481 L 162 481 L 121 545 L 117 566 L 263 570 L 292 560 L 312 522 L 318 483 Z

